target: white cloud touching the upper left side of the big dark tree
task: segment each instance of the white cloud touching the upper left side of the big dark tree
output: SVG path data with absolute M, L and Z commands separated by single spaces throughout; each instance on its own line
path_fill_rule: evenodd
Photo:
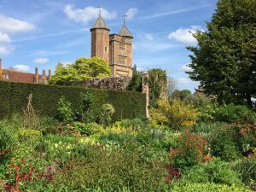
M 169 39 L 174 39 L 177 42 L 183 43 L 183 44 L 196 44 L 197 40 L 193 37 L 193 33 L 196 32 L 196 30 L 201 30 L 201 26 L 191 26 L 190 28 L 180 28 L 177 29 L 175 32 L 171 32 L 168 35 Z

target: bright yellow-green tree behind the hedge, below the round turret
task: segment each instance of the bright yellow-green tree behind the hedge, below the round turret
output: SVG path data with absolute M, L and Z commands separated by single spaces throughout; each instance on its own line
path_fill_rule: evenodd
M 107 61 L 103 61 L 99 57 L 82 57 L 66 66 L 61 62 L 58 63 L 55 75 L 49 80 L 49 84 L 71 85 L 73 82 L 110 75 L 111 67 Z

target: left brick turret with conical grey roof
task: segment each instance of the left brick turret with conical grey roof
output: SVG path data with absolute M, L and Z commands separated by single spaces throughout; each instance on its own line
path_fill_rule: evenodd
M 109 28 L 102 19 L 101 13 L 95 24 L 90 28 L 91 57 L 98 56 L 102 60 L 109 60 Z

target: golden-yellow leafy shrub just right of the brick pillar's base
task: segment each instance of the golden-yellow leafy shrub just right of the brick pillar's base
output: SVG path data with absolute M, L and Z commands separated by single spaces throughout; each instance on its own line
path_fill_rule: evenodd
M 159 100 L 157 108 L 150 110 L 152 121 L 160 125 L 170 125 L 178 130 L 183 122 L 188 120 L 195 121 L 200 113 L 191 105 L 187 105 L 179 100 Z

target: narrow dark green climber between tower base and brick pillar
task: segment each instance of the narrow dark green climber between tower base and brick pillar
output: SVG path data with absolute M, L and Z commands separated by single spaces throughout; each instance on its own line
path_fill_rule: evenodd
M 130 91 L 137 91 L 142 92 L 142 79 L 143 79 L 143 73 L 140 71 L 137 71 L 137 66 L 134 65 L 132 68 L 132 78 L 131 81 L 128 84 L 127 90 Z

